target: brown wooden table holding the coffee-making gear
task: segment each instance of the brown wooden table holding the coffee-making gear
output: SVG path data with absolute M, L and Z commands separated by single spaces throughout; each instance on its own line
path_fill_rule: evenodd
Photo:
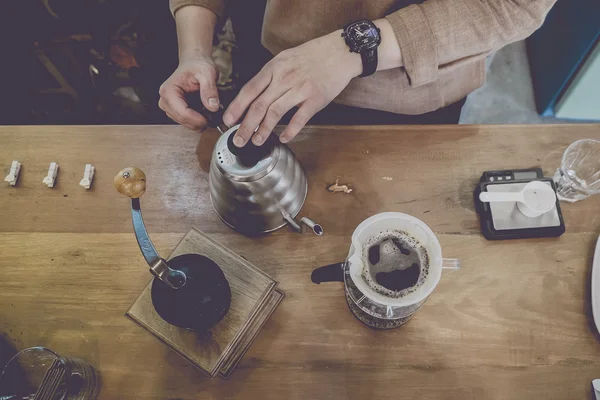
M 600 196 L 563 205 L 559 239 L 488 242 L 472 191 L 489 169 L 552 175 L 573 141 L 600 125 L 321 127 L 293 143 L 310 190 L 303 214 L 325 235 L 286 229 L 259 239 L 213 212 L 207 170 L 215 132 L 176 126 L 2 127 L 0 165 L 23 163 L 0 188 L 0 332 L 88 359 L 102 399 L 583 399 L 600 377 L 590 271 Z M 60 165 L 54 189 L 42 184 Z M 97 168 L 90 191 L 78 183 Z M 124 317 L 150 280 L 114 174 L 148 176 L 144 216 L 167 255 L 195 226 L 281 282 L 287 297 L 228 381 L 209 379 Z M 336 178 L 351 194 L 329 193 Z M 445 273 L 406 326 L 374 331 L 348 310 L 342 285 L 313 285 L 340 261 L 356 225 L 412 214 L 439 234 Z

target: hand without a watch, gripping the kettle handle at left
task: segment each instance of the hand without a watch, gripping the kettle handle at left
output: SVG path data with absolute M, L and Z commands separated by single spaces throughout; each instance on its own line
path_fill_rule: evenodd
M 209 111 L 219 109 L 217 79 L 219 73 L 214 61 L 208 56 L 198 56 L 179 63 L 179 67 L 159 89 L 158 106 L 173 121 L 201 132 L 207 120 L 197 111 L 188 107 L 185 93 L 200 91 L 200 99 Z

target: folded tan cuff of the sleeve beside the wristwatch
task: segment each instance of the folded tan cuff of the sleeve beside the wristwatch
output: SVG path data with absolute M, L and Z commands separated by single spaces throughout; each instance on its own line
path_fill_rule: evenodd
M 388 16 L 408 75 L 410 85 L 418 87 L 438 77 L 438 56 L 429 21 L 418 5 L 402 8 Z

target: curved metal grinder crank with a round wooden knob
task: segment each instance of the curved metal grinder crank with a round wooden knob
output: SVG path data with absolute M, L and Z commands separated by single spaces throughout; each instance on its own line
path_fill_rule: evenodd
M 125 168 L 115 176 L 114 184 L 119 193 L 131 198 L 133 231 L 150 272 L 173 289 L 181 288 L 185 285 L 186 275 L 169 267 L 167 261 L 160 257 L 144 225 L 139 198 L 146 191 L 146 174 L 139 168 Z

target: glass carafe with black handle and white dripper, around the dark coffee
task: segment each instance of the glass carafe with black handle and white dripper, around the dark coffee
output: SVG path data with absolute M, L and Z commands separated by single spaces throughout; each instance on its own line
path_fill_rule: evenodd
M 416 239 L 427 253 L 427 265 L 418 286 L 391 297 L 375 290 L 363 273 L 369 240 L 386 233 L 402 232 Z M 344 282 L 348 306 L 361 322 L 375 329 L 390 329 L 404 325 L 425 303 L 440 281 L 442 269 L 459 269 L 456 259 L 442 258 L 442 248 L 433 231 L 419 219 L 402 213 L 381 213 L 363 221 L 352 234 L 352 244 L 346 261 L 313 271 L 312 281 Z

